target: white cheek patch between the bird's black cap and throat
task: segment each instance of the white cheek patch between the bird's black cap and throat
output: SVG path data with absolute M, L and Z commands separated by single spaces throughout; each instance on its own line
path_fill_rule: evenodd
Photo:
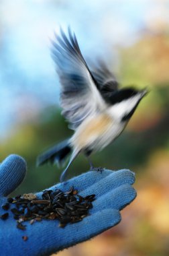
M 121 119 L 123 116 L 129 114 L 131 110 L 135 107 L 137 102 L 142 98 L 141 94 L 137 94 L 133 96 L 132 98 L 129 98 L 127 100 L 123 100 L 122 102 L 119 102 L 111 107 L 109 107 L 109 115 L 113 117 L 114 119 Z

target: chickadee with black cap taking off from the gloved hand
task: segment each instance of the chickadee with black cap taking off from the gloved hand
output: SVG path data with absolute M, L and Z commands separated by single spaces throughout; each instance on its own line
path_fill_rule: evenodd
M 147 90 L 119 89 L 105 63 L 100 62 L 91 71 L 70 28 L 68 36 L 62 29 L 60 34 L 56 35 L 56 42 L 52 42 L 52 56 L 62 85 L 62 115 L 74 134 L 38 156 L 37 164 L 60 164 L 71 153 L 68 166 L 60 177 L 62 182 L 79 153 L 89 158 L 91 153 L 103 150 L 120 135 Z

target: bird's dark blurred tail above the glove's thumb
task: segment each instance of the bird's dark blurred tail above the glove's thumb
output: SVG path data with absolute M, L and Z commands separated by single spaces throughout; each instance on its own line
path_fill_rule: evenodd
M 50 162 L 51 164 L 57 163 L 60 165 L 71 151 L 70 139 L 66 139 L 38 156 L 36 164 L 37 166 L 40 166 Z

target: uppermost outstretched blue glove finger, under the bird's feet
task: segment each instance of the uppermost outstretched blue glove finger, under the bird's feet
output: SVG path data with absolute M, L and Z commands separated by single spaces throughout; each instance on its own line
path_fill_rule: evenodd
M 91 185 L 95 185 L 98 181 L 103 181 L 105 177 L 109 176 L 115 171 L 112 170 L 103 170 L 102 172 L 97 172 L 95 170 L 82 173 L 68 181 L 65 181 L 64 183 L 58 183 L 50 189 L 61 189 L 62 191 L 68 191 L 70 187 L 74 186 L 74 189 L 78 189 L 79 191 L 82 191 L 86 189 L 87 187 L 90 187 Z M 42 195 L 42 192 L 39 192 L 36 194 L 37 197 L 40 197 Z

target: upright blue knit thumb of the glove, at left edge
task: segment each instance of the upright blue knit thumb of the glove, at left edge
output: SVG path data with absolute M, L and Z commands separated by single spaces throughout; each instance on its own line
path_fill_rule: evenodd
M 12 154 L 0 164 L 0 196 L 9 195 L 23 181 L 26 163 L 21 156 Z

